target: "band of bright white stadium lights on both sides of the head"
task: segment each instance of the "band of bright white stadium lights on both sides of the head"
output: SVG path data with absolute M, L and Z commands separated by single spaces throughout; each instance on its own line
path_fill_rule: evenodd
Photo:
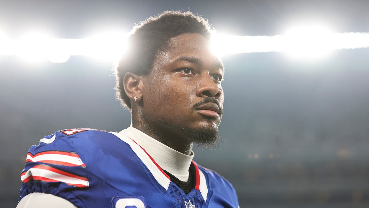
M 70 56 L 119 60 L 127 45 L 128 33 L 105 32 L 83 39 L 51 38 L 28 33 L 15 41 L 0 33 L 0 54 L 14 53 L 32 61 L 68 61 Z M 212 49 L 218 56 L 237 53 L 285 52 L 293 57 L 323 57 L 331 50 L 369 48 L 369 33 L 332 33 L 325 27 L 297 27 L 284 35 L 230 36 L 213 34 Z

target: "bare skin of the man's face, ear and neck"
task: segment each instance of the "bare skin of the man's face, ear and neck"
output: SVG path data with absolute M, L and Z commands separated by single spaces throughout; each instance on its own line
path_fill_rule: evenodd
M 171 38 L 148 76 L 127 73 L 124 77 L 132 126 L 190 154 L 196 141 L 183 128 L 217 131 L 224 101 L 223 74 L 223 65 L 206 38 L 197 33 Z

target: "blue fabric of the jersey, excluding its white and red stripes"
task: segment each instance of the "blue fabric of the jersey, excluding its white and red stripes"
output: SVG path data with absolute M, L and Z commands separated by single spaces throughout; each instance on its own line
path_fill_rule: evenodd
M 37 165 L 38 167 L 44 165 L 72 177 L 86 179 L 88 186 L 79 187 L 60 181 L 37 180 L 35 177 L 22 182 L 19 200 L 32 192 L 44 192 L 65 198 L 77 207 L 115 207 L 117 200 L 114 202 L 114 197 L 115 199 L 123 197 L 122 200 L 131 197 L 133 201 L 142 197 L 146 207 L 187 208 L 189 205 L 185 202 L 189 201 L 196 208 L 238 207 L 234 188 L 214 171 L 199 166 L 207 182 L 208 194 L 205 201 L 199 190 L 193 189 L 185 194 L 173 182 L 170 182 L 166 190 L 155 180 L 130 145 L 110 132 L 84 130 L 66 135 L 58 131 L 44 138 L 52 138 L 54 135 L 53 142 L 50 144 L 40 142 L 39 145 L 32 146 L 29 153 L 37 155 L 42 154 L 40 152 L 63 151 L 78 155 L 84 165 L 59 165 L 48 160 L 28 161 L 22 173 L 25 174 Z

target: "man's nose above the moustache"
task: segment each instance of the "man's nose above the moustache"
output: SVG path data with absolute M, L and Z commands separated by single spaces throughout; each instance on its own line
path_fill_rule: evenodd
M 207 96 L 218 99 L 223 93 L 220 83 L 216 83 L 208 73 L 203 73 L 200 77 L 200 83 L 196 90 L 197 96 Z

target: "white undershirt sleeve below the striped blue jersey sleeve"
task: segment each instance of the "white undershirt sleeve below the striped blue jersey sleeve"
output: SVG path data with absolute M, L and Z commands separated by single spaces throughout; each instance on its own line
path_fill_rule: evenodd
M 31 193 L 23 197 L 17 208 L 76 208 L 72 202 L 45 193 Z

